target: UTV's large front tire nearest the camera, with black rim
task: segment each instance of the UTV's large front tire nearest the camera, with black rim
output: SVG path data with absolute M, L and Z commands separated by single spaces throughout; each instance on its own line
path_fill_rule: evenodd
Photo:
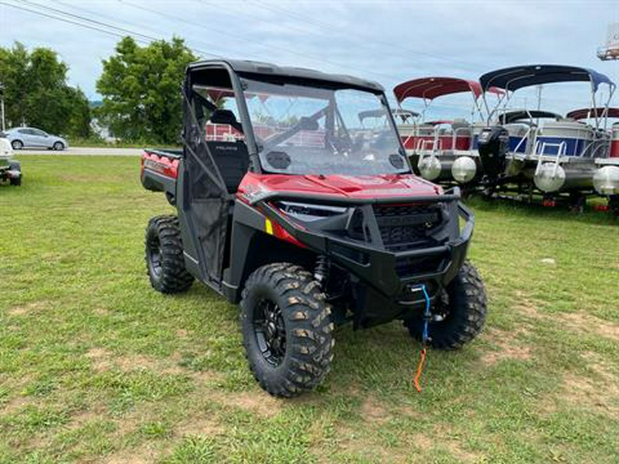
M 302 267 L 259 267 L 243 289 L 241 327 L 250 370 L 270 395 L 294 397 L 329 372 L 331 309 L 320 285 Z

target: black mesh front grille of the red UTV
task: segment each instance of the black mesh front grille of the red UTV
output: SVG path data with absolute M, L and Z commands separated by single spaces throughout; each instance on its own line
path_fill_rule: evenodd
M 429 236 L 442 221 L 439 205 L 374 205 L 383 245 L 391 252 L 437 245 Z

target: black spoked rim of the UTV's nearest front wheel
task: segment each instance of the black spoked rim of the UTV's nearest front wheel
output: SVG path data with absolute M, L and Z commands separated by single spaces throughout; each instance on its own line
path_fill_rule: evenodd
M 254 311 L 254 332 L 258 349 L 266 362 L 279 366 L 286 353 L 286 329 L 281 309 L 272 300 L 263 298 Z

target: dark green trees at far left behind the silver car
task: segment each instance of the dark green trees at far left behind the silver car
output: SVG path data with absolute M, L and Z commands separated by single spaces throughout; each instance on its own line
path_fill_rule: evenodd
M 52 49 L 28 52 L 16 42 L 0 47 L 0 82 L 5 85 L 9 126 L 28 124 L 43 131 L 87 137 L 90 110 L 83 91 L 67 84 L 69 67 Z

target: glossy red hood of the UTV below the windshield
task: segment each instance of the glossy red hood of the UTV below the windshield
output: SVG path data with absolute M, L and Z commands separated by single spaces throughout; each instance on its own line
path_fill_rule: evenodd
M 239 194 L 257 191 L 312 193 L 329 197 L 372 199 L 406 195 L 442 195 L 443 189 L 413 174 L 389 175 L 260 175 L 248 173 Z

